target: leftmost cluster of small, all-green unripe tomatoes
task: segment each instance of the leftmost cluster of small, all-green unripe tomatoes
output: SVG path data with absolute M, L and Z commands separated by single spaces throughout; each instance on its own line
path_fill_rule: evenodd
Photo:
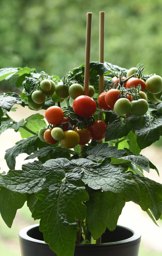
M 38 86 L 39 90 L 34 90 L 32 95 L 28 97 L 30 108 L 39 110 L 44 106 L 46 96 L 52 96 L 56 85 L 53 80 L 44 79 Z

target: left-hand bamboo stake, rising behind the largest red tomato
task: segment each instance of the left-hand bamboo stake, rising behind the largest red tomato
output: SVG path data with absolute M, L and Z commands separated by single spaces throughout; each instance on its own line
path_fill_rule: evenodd
M 88 96 L 88 91 L 89 91 L 89 68 L 90 68 L 90 51 L 91 51 L 91 30 L 92 30 L 92 13 L 87 13 L 85 74 L 84 74 L 84 95 L 87 95 L 87 96 Z

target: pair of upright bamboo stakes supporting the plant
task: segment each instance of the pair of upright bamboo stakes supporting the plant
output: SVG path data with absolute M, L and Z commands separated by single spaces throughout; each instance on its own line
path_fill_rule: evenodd
M 87 13 L 84 95 L 88 95 L 88 90 L 89 90 L 91 31 L 92 31 L 92 13 Z M 104 37 L 105 37 L 105 12 L 100 12 L 99 62 L 101 63 L 104 63 Z M 103 91 L 104 91 L 104 75 L 99 76 L 99 94 L 103 93 Z M 103 120 L 103 113 L 100 113 L 98 115 L 98 119 Z

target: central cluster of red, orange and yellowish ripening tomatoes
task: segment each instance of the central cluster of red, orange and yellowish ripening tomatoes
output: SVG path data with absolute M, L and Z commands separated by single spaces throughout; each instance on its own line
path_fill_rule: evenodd
M 83 120 L 91 117 L 96 108 L 94 99 L 89 96 L 78 96 L 73 102 L 74 113 Z M 59 106 L 49 107 L 44 117 L 51 127 L 42 127 L 38 136 L 49 144 L 56 144 L 59 141 L 65 148 L 74 148 L 78 144 L 85 145 L 90 140 L 100 141 L 105 138 L 107 125 L 102 120 L 93 121 L 91 124 L 79 128 L 77 127 L 78 119 L 64 116 L 64 112 Z

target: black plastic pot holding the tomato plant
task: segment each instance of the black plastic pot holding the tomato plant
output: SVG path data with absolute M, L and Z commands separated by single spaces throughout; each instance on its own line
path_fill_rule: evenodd
M 114 231 L 106 229 L 101 244 L 76 245 L 74 256 L 138 256 L 140 240 L 138 232 L 117 226 Z M 20 230 L 19 242 L 22 256 L 57 256 L 43 241 L 39 224 Z

